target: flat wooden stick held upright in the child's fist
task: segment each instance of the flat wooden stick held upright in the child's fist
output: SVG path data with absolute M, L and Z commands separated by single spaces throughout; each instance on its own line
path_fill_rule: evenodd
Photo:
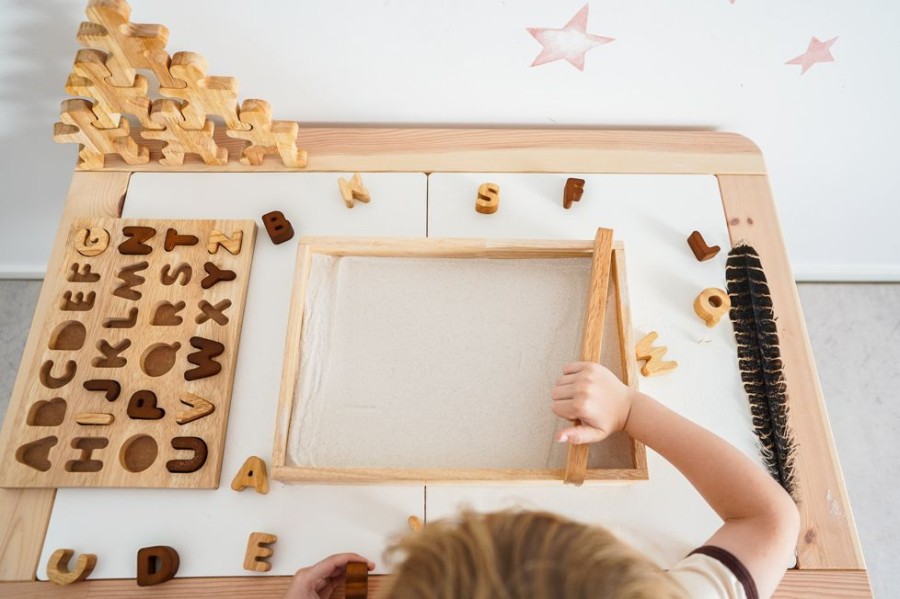
M 582 362 L 599 362 L 603 341 L 603 325 L 606 320 L 606 298 L 609 291 L 609 275 L 612 269 L 613 252 L 612 229 L 597 229 L 594 237 L 594 251 L 591 258 L 591 279 L 588 283 L 588 300 L 584 310 L 584 326 L 581 333 Z M 620 346 L 626 352 L 626 346 Z M 624 372 L 624 371 L 623 371 Z M 575 426 L 580 420 L 573 421 Z M 587 471 L 588 455 L 591 446 L 588 443 L 569 445 L 566 453 L 566 470 L 563 481 L 572 485 L 584 483 Z

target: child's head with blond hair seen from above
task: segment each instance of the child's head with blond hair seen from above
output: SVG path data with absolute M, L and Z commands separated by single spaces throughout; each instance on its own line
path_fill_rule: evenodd
M 610 532 L 546 512 L 465 512 L 394 546 L 387 597 L 679 598 L 681 588 Z

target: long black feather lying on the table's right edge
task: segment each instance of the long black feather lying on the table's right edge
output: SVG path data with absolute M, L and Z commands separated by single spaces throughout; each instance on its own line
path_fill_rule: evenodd
M 760 453 L 775 480 L 795 496 L 796 446 L 788 426 L 778 328 L 769 284 L 756 250 L 749 245 L 733 248 L 725 265 L 725 279 L 741 379 L 750 400 Z

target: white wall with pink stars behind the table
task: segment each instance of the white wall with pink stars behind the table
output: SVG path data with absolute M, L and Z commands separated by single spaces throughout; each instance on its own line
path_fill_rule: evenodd
M 77 0 L 0 0 L 0 276 L 40 276 L 75 148 L 51 140 L 78 49 Z M 900 280 L 900 5 L 888 0 L 595 0 L 615 41 L 583 72 L 531 67 L 527 27 L 562 27 L 582 0 L 133 0 L 241 97 L 301 123 L 694 127 L 763 150 L 795 274 Z M 252 8 L 251 8 L 252 7 Z M 810 38 L 834 62 L 785 65 Z

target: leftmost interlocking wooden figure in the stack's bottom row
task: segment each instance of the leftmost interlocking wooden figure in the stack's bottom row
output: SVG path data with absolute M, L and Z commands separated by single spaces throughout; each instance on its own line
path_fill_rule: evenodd
M 78 143 L 78 168 L 101 169 L 106 154 L 118 154 L 128 164 L 146 164 L 150 150 L 131 139 L 131 127 L 122 119 L 115 129 L 94 126 L 94 113 L 87 100 L 63 100 L 60 123 L 53 125 L 53 139 L 59 143 Z

